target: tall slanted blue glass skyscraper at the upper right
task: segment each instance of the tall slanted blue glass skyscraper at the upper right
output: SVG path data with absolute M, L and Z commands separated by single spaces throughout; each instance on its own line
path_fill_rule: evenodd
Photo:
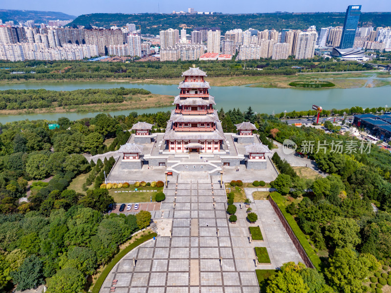
M 360 19 L 361 5 L 349 5 L 346 10 L 344 29 L 342 31 L 341 49 L 352 48 L 356 36 L 357 24 Z

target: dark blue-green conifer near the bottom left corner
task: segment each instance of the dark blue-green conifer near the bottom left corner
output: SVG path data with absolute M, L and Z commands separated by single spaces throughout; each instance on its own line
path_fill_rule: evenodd
M 36 255 L 25 258 L 18 270 L 11 272 L 14 284 L 18 284 L 16 289 L 23 291 L 43 284 L 42 268 L 43 263 Z

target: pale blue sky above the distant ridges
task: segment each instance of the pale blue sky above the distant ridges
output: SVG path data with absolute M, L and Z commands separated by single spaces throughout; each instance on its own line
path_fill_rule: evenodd
M 239 3 L 239 5 L 238 5 Z M 13 0 L 3 1 L 0 9 L 60 11 L 71 15 L 89 13 L 171 13 L 187 11 L 216 11 L 222 13 L 254 12 L 342 12 L 348 5 L 361 4 L 363 12 L 391 11 L 391 0 Z

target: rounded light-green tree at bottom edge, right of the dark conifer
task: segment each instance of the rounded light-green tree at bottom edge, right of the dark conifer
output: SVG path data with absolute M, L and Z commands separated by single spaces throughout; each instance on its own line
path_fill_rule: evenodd
M 78 293 L 83 291 L 86 279 L 82 272 L 75 268 L 59 270 L 48 279 L 47 293 Z

